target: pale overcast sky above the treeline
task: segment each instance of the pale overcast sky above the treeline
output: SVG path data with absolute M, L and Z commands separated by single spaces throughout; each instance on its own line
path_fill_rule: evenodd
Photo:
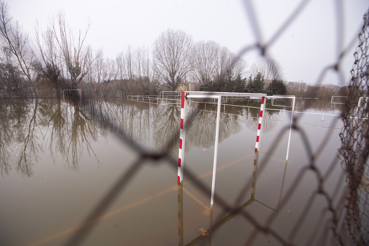
M 337 6 L 341 2 L 344 22 L 337 28 Z M 36 19 L 46 29 L 52 13 L 63 9 L 73 33 L 84 32 L 88 18 L 92 22 L 86 42 L 93 49 L 103 48 L 104 55 L 115 59 L 128 45 L 151 45 L 168 28 L 180 29 L 192 35 L 195 42 L 213 40 L 239 53 L 256 43 L 252 25 L 257 23 L 261 43 L 269 42 L 281 25 L 299 6 L 301 0 L 254 0 L 256 21 L 250 18 L 248 4 L 241 0 L 8 0 L 10 14 L 23 29 L 34 35 Z M 316 83 L 321 70 L 337 59 L 341 50 L 337 32 L 342 32 L 343 47 L 356 37 L 368 10 L 368 0 L 311 0 L 301 13 L 268 49 L 268 55 L 283 66 L 289 81 Z M 251 21 L 252 20 L 252 21 Z M 354 62 L 354 47 L 342 62 L 344 83 Z M 247 52 L 242 57 L 251 65 L 261 59 L 260 52 Z M 337 75 L 328 73 L 323 83 L 339 84 Z

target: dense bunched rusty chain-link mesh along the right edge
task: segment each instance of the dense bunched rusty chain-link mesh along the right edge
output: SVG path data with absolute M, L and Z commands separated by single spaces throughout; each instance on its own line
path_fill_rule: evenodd
M 347 108 L 343 118 L 344 128 L 340 134 L 342 168 L 348 182 L 348 198 L 345 223 L 342 230 L 353 244 L 367 245 L 369 241 L 368 204 L 368 38 L 369 16 L 364 15 L 364 25 L 359 34 L 359 45 L 354 53 Z M 361 99 L 363 100 L 361 100 Z M 358 101 L 360 104 L 358 105 Z

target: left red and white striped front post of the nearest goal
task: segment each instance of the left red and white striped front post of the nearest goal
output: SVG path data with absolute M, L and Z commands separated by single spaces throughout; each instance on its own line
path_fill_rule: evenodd
M 182 182 L 183 180 L 184 140 L 186 138 L 186 111 L 187 98 L 184 91 L 182 91 L 177 182 Z

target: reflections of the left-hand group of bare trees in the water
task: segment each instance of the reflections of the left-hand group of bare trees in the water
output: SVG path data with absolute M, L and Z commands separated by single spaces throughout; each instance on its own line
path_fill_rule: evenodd
M 0 106 L 1 175 L 8 175 L 14 165 L 18 173 L 31 177 L 45 146 L 54 163 L 61 153 L 75 171 L 85 148 L 94 154 L 90 142 L 97 141 L 100 132 L 79 108 L 65 108 L 60 99 L 1 100 Z

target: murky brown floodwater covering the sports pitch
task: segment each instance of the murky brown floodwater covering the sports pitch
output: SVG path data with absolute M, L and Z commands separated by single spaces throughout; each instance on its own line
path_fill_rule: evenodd
M 296 113 L 299 130 L 292 132 L 286 162 L 288 107 L 267 102 L 275 110 L 264 111 L 256 155 L 260 101 L 233 103 L 252 107 L 222 105 L 211 209 L 214 104 L 189 105 L 186 173 L 177 184 L 175 105 L 121 98 L 86 99 L 81 107 L 65 107 L 63 99 L 0 100 L 0 244 L 245 245 L 250 235 L 254 245 L 281 244 L 271 233 L 255 233 L 255 224 L 294 244 L 308 243 L 327 201 L 316 192 L 314 171 L 293 182 L 310 163 L 310 152 L 322 174 L 339 163 L 342 122 L 322 114 L 339 115 L 344 108 L 316 100 L 306 112 L 319 114 Z M 297 101 L 296 111 L 304 104 Z M 141 158 L 142 149 L 172 159 Z M 329 172 L 324 188 L 333 193 L 345 179 L 339 164 Z M 210 223 L 217 225 L 211 237 L 201 236 L 199 229 Z

